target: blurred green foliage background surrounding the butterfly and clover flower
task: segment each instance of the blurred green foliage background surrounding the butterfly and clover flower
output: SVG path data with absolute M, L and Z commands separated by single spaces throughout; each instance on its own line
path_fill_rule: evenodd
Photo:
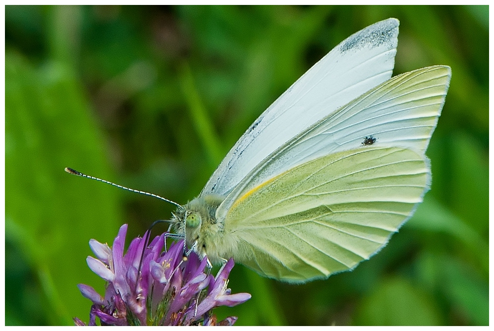
M 237 325 L 489 324 L 488 6 L 6 6 L 5 324 L 88 321 L 88 241 L 195 197 L 250 123 L 345 37 L 400 20 L 394 74 L 453 71 L 432 190 L 354 271 L 305 285 L 241 265 Z M 158 234 L 159 230 L 155 229 Z

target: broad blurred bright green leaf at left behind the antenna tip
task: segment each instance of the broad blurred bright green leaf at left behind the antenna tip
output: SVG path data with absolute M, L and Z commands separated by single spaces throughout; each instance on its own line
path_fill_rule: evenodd
M 72 325 L 90 307 L 77 284 L 96 279 L 85 263 L 88 241 L 113 238 L 118 193 L 63 171 L 70 165 L 110 177 L 103 139 L 71 70 L 56 63 L 35 70 L 7 50 L 5 80 L 5 237 L 39 275 L 47 318 Z

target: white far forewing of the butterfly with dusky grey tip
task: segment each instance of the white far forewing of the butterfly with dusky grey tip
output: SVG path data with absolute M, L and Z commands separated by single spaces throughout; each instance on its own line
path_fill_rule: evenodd
M 389 79 L 398 42 L 396 19 L 348 37 L 302 75 L 247 129 L 201 196 L 226 195 L 264 158 L 332 111 Z

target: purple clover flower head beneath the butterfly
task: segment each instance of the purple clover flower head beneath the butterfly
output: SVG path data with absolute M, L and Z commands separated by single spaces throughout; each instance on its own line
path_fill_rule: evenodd
M 228 260 L 216 277 L 204 272 L 206 258 L 195 253 L 183 257 L 183 241 L 172 243 L 167 252 L 165 233 L 147 246 L 144 238 L 135 238 L 124 255 L 127 224 L 122 225 L 110 248 L 91 239 L 94 257 L 87 265 L 107 281 L 105 295 L 79 284 L 81 294 L 92 301 L 89 325 L 233 325 L 236 317 L 218 322 L 211 310 L 218 306 L 233 307 L 250 299 L 248 293 L 231 294 L 228 275 L 234 261 Z M 141 254 L 144 250 L 142 265 Z M 74 318 L 76 325 L 85 325 Z

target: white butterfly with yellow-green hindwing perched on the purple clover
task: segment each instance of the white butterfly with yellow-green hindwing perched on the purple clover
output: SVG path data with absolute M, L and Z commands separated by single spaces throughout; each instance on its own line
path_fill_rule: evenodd
M 177 210 L 189 247 L 301 283 L 386 245 L 430 186 L 425 150 L 451 77 L 434 66 L 391 78 L 398 25 L 348 37 L 255 120 Z

